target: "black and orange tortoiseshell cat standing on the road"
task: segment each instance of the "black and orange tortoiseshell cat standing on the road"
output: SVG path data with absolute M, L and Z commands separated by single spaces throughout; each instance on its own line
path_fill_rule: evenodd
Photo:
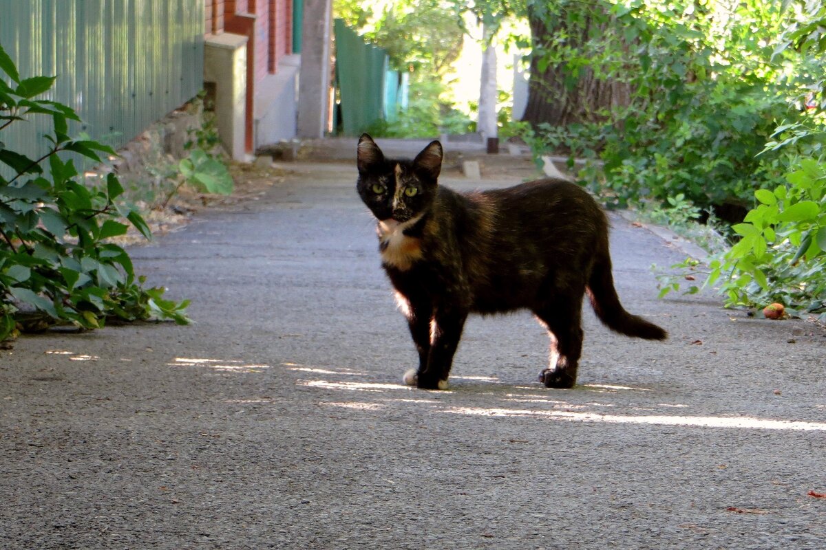
M 375 214 L 379 250 L 419 352 L 405 382 L 447 388 L 468 313 L 529 309 L 551 337 L 548 388 L 572 388 L 582 350 L 582 296 L 626 336 L 663 340 L 666 331 L 619 303 L 608 251 L 608 220 L 591 195 L 564 180 L 460 194 L 439 186 L 442 146 L 414 160 L 384 157 L 358 140 L 358 195 Z

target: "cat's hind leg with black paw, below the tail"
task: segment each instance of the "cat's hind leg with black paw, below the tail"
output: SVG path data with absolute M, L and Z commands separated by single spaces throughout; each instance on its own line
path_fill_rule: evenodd
M 539 382 L 546 388 L 573 388 L 582 355 L 582 294 L 554 300 L 534 314 L 551 339 L 548 368 L 539 373 Z

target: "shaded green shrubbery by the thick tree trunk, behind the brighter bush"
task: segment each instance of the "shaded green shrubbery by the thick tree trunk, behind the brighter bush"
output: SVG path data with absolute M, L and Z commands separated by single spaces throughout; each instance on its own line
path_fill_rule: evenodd
M 541 2 L 529 2 L 537 5 Z M 596 108 L 577 125 L 539 128 L 548 145 L 565 136 L 572 154 L 599 157 L 582 174 L 610 204 L 682 193 L 701 208 L 751 199 L 766 182 L 782 181 L 778 155 L 757 157 L 777 120 L 805 116 L 791 99 L 814 82 L 814 63 L 767 44 L 792 12 L 774 2 L 558 2 L 534 7 L 553 32 L 586 33 L 582 46 L 554 35 L 545 67 L 562 66 L 574 89 L 588 68 L 597 80 L 629 91 L 627 101 Z M 602 18 L 599 34 L 593 18 Z M 720 21 L 726 21 L 722 25 Z M 592 32 L 592 31 L 591 31 Z M 571 143 L 573 142 L 573 143 Z

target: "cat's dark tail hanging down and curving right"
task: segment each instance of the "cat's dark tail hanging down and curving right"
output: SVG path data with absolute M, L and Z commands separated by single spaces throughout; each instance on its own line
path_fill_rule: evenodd
M 596 317 L 600 317 L 600 321 L 606 327 L 619 334 L 646 340 L 665 340 L 668 336 L 666 331 L 643 317 L 628 313 L 619 303 L 619 296 L 614 288 L 614 276 L 611 275 L 610 257 L 605 256 L 596 261 L 588 280 L 588 297 L 591 299 L 591 307 L 594 308 Z

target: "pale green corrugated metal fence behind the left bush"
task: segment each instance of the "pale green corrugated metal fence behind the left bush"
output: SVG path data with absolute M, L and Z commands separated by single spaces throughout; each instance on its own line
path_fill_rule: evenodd
M 0 0 L 0 44 L 21 77 L 57 75 L 48 98 L 74 107 L 73 130 L 115 148 L 203 87 L 203 0 Z M 15 124 L 3 141 L 45 150 L 51 121 Z

